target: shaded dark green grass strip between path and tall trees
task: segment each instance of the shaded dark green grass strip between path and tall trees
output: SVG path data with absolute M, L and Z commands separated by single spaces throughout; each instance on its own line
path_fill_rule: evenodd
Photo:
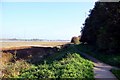
M 109 65 L 120 67 L 120 54 L 105 54 L 95 50 L 94 47 L 89 45 L 77 45 L 76 48 L 85 52 Z

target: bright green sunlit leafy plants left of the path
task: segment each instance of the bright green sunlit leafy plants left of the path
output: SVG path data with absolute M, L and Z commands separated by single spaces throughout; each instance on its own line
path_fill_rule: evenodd
M 93 64 L 79 54 L 67 54 L 66 58 L 52 64 L 40 64 L 23 70 L 20 78 L 93 78 Z

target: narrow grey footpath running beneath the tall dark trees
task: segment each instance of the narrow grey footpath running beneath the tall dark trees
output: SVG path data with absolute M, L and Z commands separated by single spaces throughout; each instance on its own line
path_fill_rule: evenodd
M 77 49 L 76 49 L 77 50 Z M 94 63 L 94 78 L 95 80 L 118 80 L 114 74 L 112 74 L 112 72 L 110 71 L 111 69 L 118 69 L 114 66 L 110 66 L 108 64 L 105 64 L 99 60 L 97 60 L 96 58 L 83 53 L 79 50 L 77 50 L 82 56 L 84 56 L 85 58 L 91 60 Z

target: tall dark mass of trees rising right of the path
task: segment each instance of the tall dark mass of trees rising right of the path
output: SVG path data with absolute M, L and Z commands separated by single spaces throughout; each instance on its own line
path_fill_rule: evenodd
M 96 2 L 83 24 L 80 41 L 104 52 L 120 52 L 120 2 Z

